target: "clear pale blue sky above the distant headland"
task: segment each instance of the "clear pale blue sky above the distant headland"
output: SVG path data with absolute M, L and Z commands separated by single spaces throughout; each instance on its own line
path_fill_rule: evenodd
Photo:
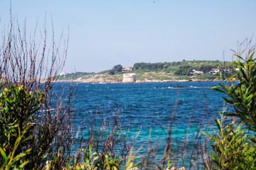
M 9 24 L 0 0 L 0 28 Z M 181 60 L 231 61 L 238 42 L 255 40 L 255 0 L 12 0 L 28 30 L 53 19 L 69 35 L 64 72 L 100 72 L 114 65 Z M 50 31 L 51 24 L 46 28 Z M 69 28 L 69 32 L 68 32 Z M 254 41 L 256 42 L 256 41 Z

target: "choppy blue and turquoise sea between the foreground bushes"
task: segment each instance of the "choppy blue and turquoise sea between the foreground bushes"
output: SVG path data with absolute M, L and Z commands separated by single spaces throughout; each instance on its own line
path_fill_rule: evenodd
M 205 140 L 202 132 L 213 133 L 209 128 L 214 125 L 213 118 L 220 118 L 223 108 L 232 109 L 223 103 L 225 94 L 210 89 L 221 83 L 74 84 L 76 130 L 90 140 L 92 125 L 96 130 L 122 127 L 123 135 L 134 141 L 139 153 L 146 152 L 150 143 L 151 147 L 157 145 L 155 154 L 160 155 L 171 134 L 173 154 L 181 155 L 186 150 L 189 156 L 198 138 Z M 68 83 L 55 86 L 69 88 Z

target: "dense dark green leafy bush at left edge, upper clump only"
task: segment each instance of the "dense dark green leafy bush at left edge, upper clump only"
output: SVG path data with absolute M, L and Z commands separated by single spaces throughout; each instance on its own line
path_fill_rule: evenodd
M 37 91 L 35 95 L 27 92 L 26 87 L 16 84 L 1 84 L 0 91 L 0 147 L 7 155 L 14 153 L 14 149 L 17 153 L 24 152 L 24 145 L 33 135 L 33 114 L 39 110 L 43 94 Z M 1 158 L 0 162 L 4 160 Z

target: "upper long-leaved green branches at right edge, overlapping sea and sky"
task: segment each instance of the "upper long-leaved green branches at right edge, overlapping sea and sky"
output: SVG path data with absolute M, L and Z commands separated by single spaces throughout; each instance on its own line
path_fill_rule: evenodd
M 223 97 L 224 100 L 234 106 L 235 113 L 226 113 L 226 115 L 237 116 L 245 122 L 247 128 L 256 132 L 256 59 L 254 55 L 255 46 L 242 52 L 235 52 L 238 60 L 232 64 L 238 67 L 239 71 L 227 81 L 237 78 L 238 83 L 227 82 L 213 89 L 227 94 L 229 98 Z

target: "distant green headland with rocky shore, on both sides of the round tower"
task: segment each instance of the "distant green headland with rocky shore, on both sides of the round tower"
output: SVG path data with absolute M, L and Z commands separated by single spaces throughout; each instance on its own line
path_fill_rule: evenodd
M 121 68 L 121 69 L 120 69 Z M 181 62 L 159 62 L 159 63 L 135 63 L 132 72 L 136 73 L 137 82 L 151 82 L 151 81 L 179 81 L 179 80 L 213 80 L 220 76 L 217 74 L 210 74 L 211 69 L 226 70 L 223 72 L 223 78 L 230 76 L 232 67 L 230 62 L 208 61 L 208 60 L 193 60 Z M 201 74 L 191 74 L 193 71 L 203 72 Z M 76 72 L 73 74 L 65 74 L 59 77 L 59 81 L 80 81 L 87 83 L 118 83 L 122 82 L 122 66 L 119 64 L 112 69 L 105 70 L 98 73 Z

